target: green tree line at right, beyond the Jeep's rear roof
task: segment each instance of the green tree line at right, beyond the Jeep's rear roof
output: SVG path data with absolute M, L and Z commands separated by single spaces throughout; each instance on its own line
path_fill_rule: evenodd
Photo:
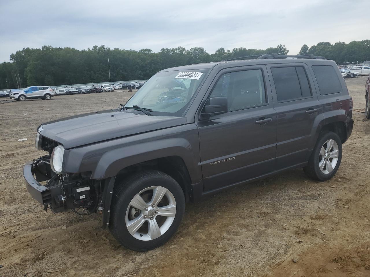
M 338 65 L 347 62 L 361 63 L 370 61 L 370 40 L 351 41 L 350 43 L 339 41 L 334 44 L 323 41 L 311 47 L 303 44 L 298 54 L 304 55 L 307 53 L 332 59 Z

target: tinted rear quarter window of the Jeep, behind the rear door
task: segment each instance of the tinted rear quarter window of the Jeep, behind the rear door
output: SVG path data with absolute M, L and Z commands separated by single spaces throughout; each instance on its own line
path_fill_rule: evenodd
M 320 95 L 328 95 L 342 92 L 342 85 L 337 72 L 331 65 L 313 65 L 317 85 L 319 86 Z

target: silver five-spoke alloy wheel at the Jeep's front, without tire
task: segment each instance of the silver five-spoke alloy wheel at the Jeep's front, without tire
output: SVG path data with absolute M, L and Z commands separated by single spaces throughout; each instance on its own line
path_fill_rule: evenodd
M 171 191 L 154 186 L 143 189 L 127 207 L 125 223 L 128 232 L 138 240 L 154 240 L 174 222 L 176 201 Z

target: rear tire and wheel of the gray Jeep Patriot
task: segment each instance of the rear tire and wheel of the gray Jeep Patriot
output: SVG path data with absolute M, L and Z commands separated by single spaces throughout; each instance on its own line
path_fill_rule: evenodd
M 332 147 L 327 143 L 332 143 Z M 322 150 L 323 148 L 323 150 Z M 330 148 L 330 149 L 329 149 Z M 326 151 L 329 150 L 329 153 Z M 325 154 L 328 160 L 325 160 Z M 330 155 L 328 155 L 330 154 Z M 342 141 L 332 131 L 324 131 L 320 134 L 316 146 L 312 151 L 306 167 L 303 168 L 306 175 L 314 180 L 326 181 L 336 174 L 342 161 Z M 321 165 L 321 169 L 320 169 Z

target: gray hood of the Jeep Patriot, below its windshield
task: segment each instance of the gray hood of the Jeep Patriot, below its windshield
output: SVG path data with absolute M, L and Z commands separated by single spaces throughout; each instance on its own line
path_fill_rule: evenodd
M 184 124 L 186 117 L 147 116 L 141 113 L 105 110 L 41 124 L 42 130 L 39 133 L 69 149 Z

